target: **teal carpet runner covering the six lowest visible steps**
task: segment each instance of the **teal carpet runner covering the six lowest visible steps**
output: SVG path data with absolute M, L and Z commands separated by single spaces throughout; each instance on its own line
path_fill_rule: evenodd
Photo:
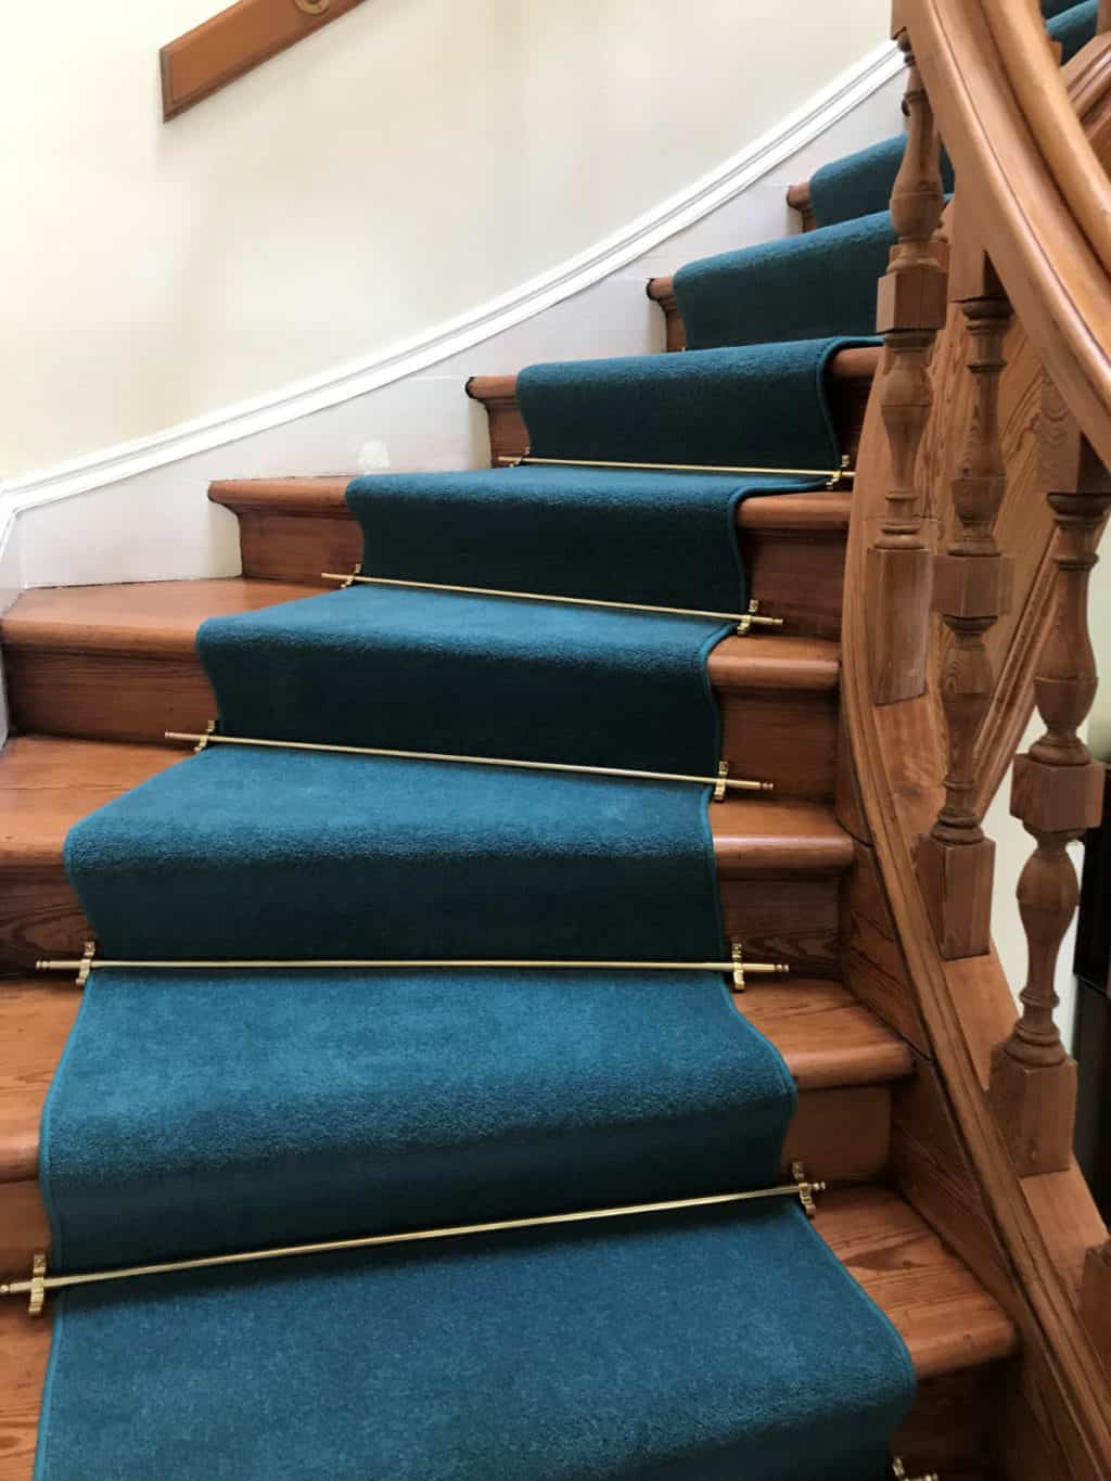
M 541 366 L 521 404 L 539 456 L 830 469 L 837 348 Z M 375 575 L 736 613 L 738 501 L 821 483 L 526 467 L 348 499 Z M 713 776 L 732 625 L 353 586 L 200 653 L 225 735 Z M 708 800 L 215 742 L 67 866 L 126 960 L 720 961 Z M 705 970 L 93 970 L 43 1120 L 53 1265 L 760 1189 L 794 1103 Z M 39 1481 L 881 1481 L 914 1389 L 794 1200 L 73 1288 L 55 1324 Z

